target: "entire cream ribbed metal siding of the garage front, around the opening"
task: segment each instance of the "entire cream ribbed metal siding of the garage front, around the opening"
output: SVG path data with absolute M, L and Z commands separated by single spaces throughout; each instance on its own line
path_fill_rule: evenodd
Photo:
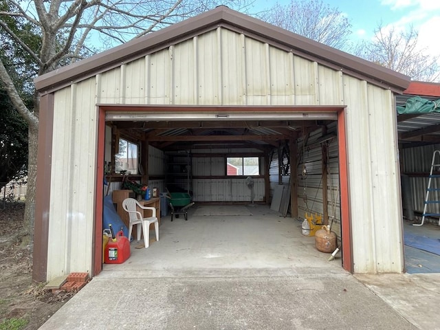
M 92 267 L 97 103 L 347 104 L 354 270 L 403 269 L 391 91 L 219 28 L 55 92 L 48 279 Z

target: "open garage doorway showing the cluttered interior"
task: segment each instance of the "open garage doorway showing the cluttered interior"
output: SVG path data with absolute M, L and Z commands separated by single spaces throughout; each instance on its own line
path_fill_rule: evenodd
M 123 199 L 145 203 L 138 188 L 148 186 L 160 223 L 157 245 L 151 226 L 148 251 L 131 235 L 131 264 L 319 265 L 330 254 L 316 250 L 315 235 L 327 224 L 342 249 L 335 109 L 111 108 L 105 109 L 104 195 L 128 225 Z M 190 199 L 173 206 L 175 193 Z M 146 253 L 153 259 L 142 266 Z M 342 254 L 333 264 L 341 267 Z

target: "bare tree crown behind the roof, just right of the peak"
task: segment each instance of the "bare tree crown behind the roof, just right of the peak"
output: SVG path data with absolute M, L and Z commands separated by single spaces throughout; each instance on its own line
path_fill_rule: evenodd
M 287 5 L 276 3 L 259 14 L 259 18 L 340 50 L 349 46 L 349 19 L 338 8 L 331 8 L 320 0 L 291 0 Z

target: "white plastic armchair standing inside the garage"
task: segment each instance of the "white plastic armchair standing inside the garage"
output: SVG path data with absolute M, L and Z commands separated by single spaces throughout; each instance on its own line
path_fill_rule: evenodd
M 141 212 L 137 210 L 136 207 L 141 208 L 142 210 L 151 210 L 153 215 L 151 217 L 142 217 Z M 143 206 L 137 202 L 134 198 L 126 198 L 122 201 L 122 208 L 129 213 L 130 225 L 129 225 L 129 239 L 131 237 L 131 231 L 133 230 L 133 225 L 137 225 L 137 241 L 140 241 L 140 233 L 141 227 L 144 231 L 144 244 L 145 248 L 149 246 L 150 239 L 150 224 L 154 223 L 154 228 L 156 231 L 156 241 L 159 241 L 159 221 L 157 221 L 156 217 L 156 208 L 152 208 L 151 206 Z

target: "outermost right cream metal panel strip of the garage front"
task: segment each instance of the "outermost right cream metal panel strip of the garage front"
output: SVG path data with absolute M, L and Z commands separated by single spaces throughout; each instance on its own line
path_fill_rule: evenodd
M 397 264 L 401 271 L 403 251 L 395 248 L 403 244 L 402 231 L 398 229 L 401 226 L 401 195 L 396 115 L 394 111 L 383 111 L 395 109 L 395 104 L 391 91 L 369 85 L 368 92 L 376 269 L 386 272 L 388 265 Z M 384 150 L 395 152 L 384 153 Z

